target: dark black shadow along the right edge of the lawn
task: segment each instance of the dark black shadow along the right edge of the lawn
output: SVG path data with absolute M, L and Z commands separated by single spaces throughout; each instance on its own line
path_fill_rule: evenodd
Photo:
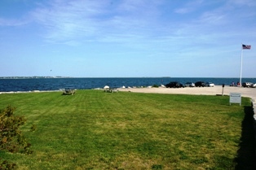
M 254 109 L 245 107 L 245 118 L 242 121 L 242 132 L 240 149 L 236 155 L 236 170 L 255 170 L 256 169 L 256 142 L 254 133 Z

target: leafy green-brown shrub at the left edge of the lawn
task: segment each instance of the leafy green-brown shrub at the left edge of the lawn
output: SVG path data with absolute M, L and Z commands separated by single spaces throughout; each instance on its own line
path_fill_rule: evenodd
M 15 107 L 10 105 L 0 111 L 0 150 L 31 154 L 30 143 L 26 142 L 19 129 L 26 120 L 24 116 L 15 116 L 14 111 Z M 0 170 L 13 168 L 15 163 L 8 163 L 6 160 L 0 162 Z

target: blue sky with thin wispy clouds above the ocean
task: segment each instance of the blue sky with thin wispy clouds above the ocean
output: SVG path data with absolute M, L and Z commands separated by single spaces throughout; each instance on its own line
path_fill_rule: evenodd
M 255 0 L 1 0 L 0 76 L 256 77 Z

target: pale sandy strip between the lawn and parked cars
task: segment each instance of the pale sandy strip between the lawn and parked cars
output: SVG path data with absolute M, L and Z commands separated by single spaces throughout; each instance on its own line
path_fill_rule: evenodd
M 242 97 L 249 97 L 256 100 L 256 89 L 244 87 L 232 87 L 215 85 L 214 87 L 186 87 L 186 88 L 120 88 L 119 91 L 135 93 L 155 94 L 196 94 L 196 95 L 229 95 L 230 93 L 241 93 Z

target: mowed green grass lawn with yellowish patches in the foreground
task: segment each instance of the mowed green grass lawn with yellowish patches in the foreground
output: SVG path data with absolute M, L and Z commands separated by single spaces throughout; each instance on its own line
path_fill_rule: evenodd
M 227 96 L 77 90 L 0 94 L 16 107 L 32 155 L 0 151 L 18 169 L 235 169 L 242 106 Z M 37 129 L 30 132 L 35 124 Z

